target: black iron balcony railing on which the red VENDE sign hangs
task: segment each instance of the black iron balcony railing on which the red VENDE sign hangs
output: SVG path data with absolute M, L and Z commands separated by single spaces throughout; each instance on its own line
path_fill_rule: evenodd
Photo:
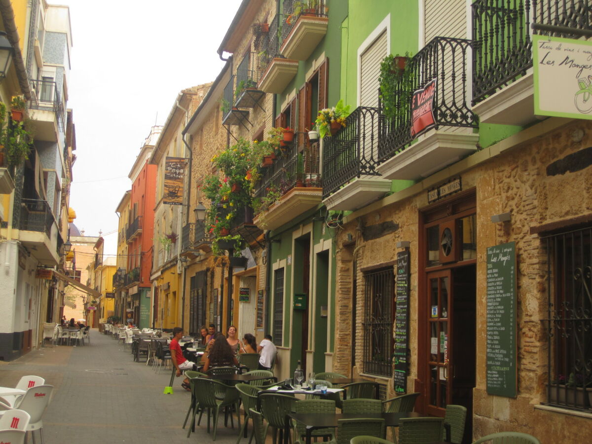
M 413 141 L 411 137 L 411 99 L 413 91 L 436 79 L 433 106 L 436 128 L 476 128 L 477 118 L 467 102 L 467 65 L 471 41 L 464 38 L 435 37 L 420 50 L 407 68 L 411 82 L 401 76 L 396 86 L 395 108 L 403 110 L 392 120 L 382 117 L 379 162 L 397 155 Z

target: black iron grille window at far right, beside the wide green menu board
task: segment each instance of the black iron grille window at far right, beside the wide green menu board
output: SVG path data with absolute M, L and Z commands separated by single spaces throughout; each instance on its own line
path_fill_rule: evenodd
M 587 411 L 592 387 L 592 226 L 544 239 L 548 259 L 547 403 Z

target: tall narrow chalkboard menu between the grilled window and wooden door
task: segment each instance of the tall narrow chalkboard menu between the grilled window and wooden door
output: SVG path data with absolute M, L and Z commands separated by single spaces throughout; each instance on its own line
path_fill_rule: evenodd
M 395 314 L 395 350 L 393 374 L 396 394 L 407 392 L 407 348 L 409 326 L 409 251 L 397 253 L 397 311 Z

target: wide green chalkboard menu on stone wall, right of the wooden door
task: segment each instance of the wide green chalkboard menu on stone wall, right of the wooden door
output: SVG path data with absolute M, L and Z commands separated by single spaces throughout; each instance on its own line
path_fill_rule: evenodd
M 516 244 L 487 249 L 487 392 L 516 397 Z

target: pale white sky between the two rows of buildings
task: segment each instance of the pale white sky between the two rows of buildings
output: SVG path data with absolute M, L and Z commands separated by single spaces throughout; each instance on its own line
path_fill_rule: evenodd
M 76 125 L 70 207 L 86 236 L 117 252 L 115 208 L 153 125 L 181 89 L 212 82 L 240 0 L 62 0 L 70 7 L 69 101 Z M 110 231 L 115 233 L 105 236 Z

